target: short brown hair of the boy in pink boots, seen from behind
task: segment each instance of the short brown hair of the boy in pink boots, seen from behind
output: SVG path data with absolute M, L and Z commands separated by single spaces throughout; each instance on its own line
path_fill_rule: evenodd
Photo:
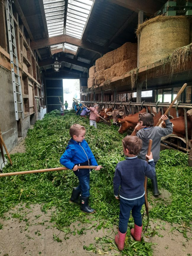
M 122 145 L 127 148 L 130 154 L 137 155 L 142 147 L 142 140 L 137 136 L 127 135 L 122 140 Z

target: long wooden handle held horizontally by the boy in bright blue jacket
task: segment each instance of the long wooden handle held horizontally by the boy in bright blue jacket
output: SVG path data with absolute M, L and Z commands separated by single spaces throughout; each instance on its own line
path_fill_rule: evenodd
M 96 167 L 97 166 L 93 166 L 93 165 L 90 165 L 90 166 L 89 165 L 81 165 L 81 166 L 78 166 L 78 169 L 95 169 Z M 37 172 L 55 171 L 55 170 L 68 170 L 68 168 L 57 167 L 57 168 L 40 169 L 40 170 L 15 171 L 15 172 L 8 172 L 8 173 L 0 173 L 0 177 L 19 175 L 19 174 L 30 174 L 30 173 L 37 173 Z

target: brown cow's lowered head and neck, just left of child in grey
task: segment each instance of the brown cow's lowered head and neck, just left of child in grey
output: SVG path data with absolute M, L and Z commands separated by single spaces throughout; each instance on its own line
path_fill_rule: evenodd
M 124 133 L 130 127 L 135 127 L 138 122 L 138 114 L 146 112 L 146 108 L 142 108 L 141 111 L 135 114 L 129 114 L 125 116 L 123 119 L 118 119 L 120 123 L 120 128 L 118 129 L 119 133 Z

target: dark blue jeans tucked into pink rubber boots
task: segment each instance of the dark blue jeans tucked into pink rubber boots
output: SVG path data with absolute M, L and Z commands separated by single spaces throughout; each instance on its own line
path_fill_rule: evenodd
M 120 213 L 119 213 L 118 230 L 121 233 L 126 232 L 130 211 L 132 212 L 134 223 L 137 226 L 141 226 L 142 216 L 141 216 L 140 210 L 142 208 L 142 204 L 144 203 L 144 195 L 135 200 L 125 200 L 121 197 L 119 197 L 119 200 L 120 200 Z

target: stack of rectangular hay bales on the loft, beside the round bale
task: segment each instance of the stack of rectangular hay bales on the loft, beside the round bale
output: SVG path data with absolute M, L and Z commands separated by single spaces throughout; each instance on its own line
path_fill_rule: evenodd
M 109 82 L 115 76 L 121 76 L 137 65 L 137 43 L 126 42 L 119 48 L 109 51 L 95 61 L 94 84 Z M 93 67 L 91 67 L 93 68 Z M 90 68 L 90 69 L 91 69 Z M 92 69 L 89 78 L 92 74 Z M 93 78 L 88 78 L 90 86 Z

